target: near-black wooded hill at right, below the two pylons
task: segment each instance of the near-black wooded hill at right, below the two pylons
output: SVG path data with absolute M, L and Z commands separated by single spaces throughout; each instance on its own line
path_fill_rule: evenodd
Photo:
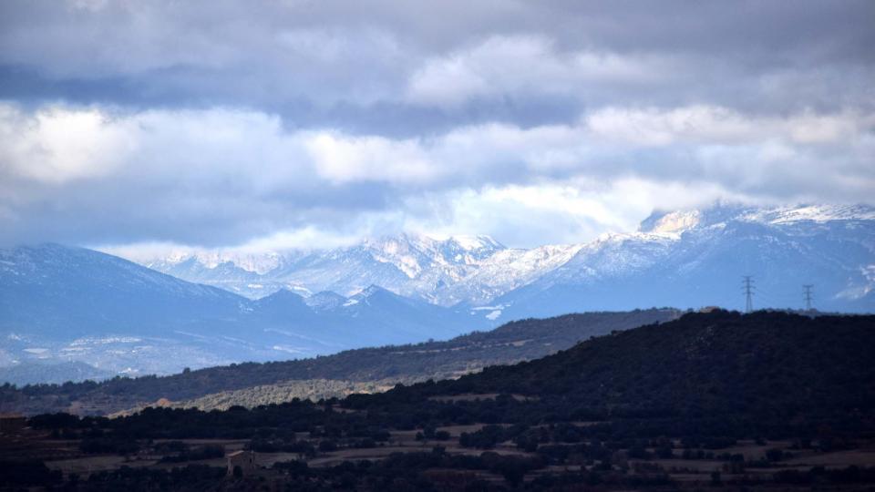
M 539 360 L 365 400 L 519 394 L 537 397 L 560 420 L 634 415 L 688 425 L 875 428 L 872 361 L 875 316 L 688 313 Z

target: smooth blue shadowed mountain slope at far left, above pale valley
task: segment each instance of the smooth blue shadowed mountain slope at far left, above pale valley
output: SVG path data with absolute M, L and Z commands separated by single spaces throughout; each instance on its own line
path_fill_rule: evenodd
M 230 292 L 57 244 L 0 251 L 0 289 L 0 329 L 46 337 L 88 336 L 107 326 L 119 334 L 197 330 L 245 308 Z

